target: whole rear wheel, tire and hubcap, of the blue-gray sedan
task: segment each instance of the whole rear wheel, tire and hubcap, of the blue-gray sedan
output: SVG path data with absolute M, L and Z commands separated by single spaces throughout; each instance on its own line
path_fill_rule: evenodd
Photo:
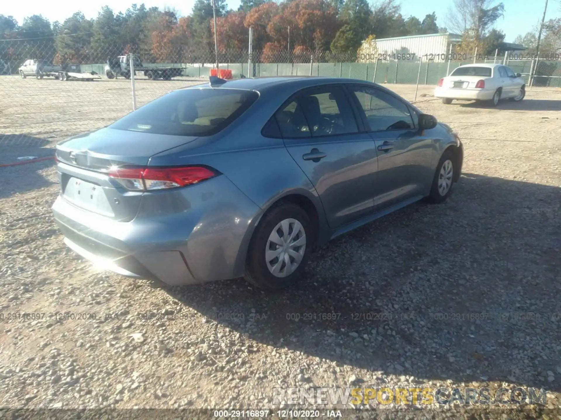
M 296 204 L 281 204 L 263 216 L 247 251 L 245 279 L 265 290 L 280 290 L 304 273 L 314 243 L 312 223 Z

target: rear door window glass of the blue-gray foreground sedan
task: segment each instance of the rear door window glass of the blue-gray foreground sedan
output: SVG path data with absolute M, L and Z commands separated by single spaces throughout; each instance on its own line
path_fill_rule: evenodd
M 357 133 L 355 115 L 337 86 L 297 95 L 275 114 L 285 138 L 324 137 Z

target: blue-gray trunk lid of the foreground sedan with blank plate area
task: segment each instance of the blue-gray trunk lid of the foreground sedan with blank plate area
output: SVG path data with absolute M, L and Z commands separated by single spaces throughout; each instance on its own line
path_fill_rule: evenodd
M 57 145 L 61 195 L 86 211 L 119 221 L 131 221 L 141 191 L 129 191 L 109 176 L 114 167 L 146 166 L 151 156 L 197 137 L 162 136 L 103 128 Z

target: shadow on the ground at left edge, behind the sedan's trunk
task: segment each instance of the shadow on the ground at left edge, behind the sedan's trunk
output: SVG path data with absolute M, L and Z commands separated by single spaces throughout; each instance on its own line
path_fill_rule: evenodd
M 0 134 L 0 165 L 19 164 L 22 161 L 17 158 L 23 156 L 54 156 L 54 148 L 45 147 L 48 144 L 50 142 L 47 139 L 26 134 Z M 54 159 L 48 159 L 16 166 L 0 166 L 0 199 L 52 185 L 39 171 L 54 165 Z

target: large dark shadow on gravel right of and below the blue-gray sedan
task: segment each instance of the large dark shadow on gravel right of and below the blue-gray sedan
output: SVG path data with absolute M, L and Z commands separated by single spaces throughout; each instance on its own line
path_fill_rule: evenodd
M 463 174 L 444 205 L 413 204 L 323 246 L 288 290 L 241 280 L 164 289 L 305 356 L 559 391 L 560 206 L 554 186 Z

